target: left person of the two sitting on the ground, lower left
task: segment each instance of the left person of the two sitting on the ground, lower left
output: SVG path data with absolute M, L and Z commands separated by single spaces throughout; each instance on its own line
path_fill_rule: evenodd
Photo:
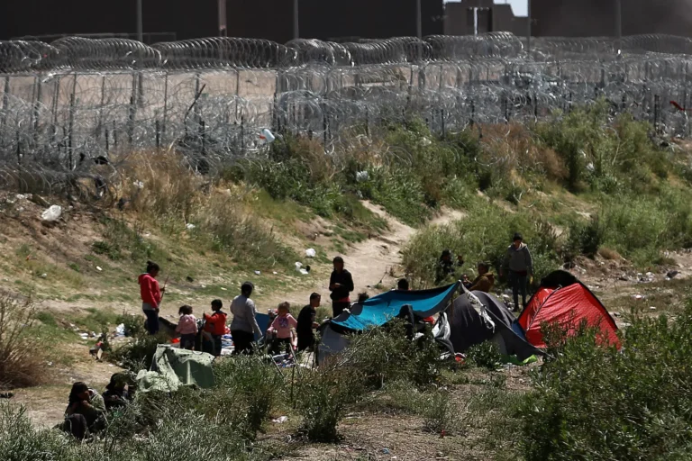
M 104 398 L 85 383 L 72 384 L 65 422 L 61 429 L 82 440 L 87 438 L 89 432 L 98 432 L 104 428 Z

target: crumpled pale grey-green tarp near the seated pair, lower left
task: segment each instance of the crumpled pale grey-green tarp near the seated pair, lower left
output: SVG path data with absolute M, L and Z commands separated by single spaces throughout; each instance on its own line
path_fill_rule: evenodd
M 213 387 L 213 361 L 214 356 L 206 352 L 159 344 L 150 371 L 142 370 L 137 375 L 137 392 L 175 392 L 183 385 Z

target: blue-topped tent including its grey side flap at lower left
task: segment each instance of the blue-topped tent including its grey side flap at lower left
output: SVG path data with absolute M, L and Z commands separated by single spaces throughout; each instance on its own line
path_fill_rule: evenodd
M 322 339 L 318 345 L 318 360 L 341 352 L 349 346 L 347 335 L 378 327 L 402 312 L 413 312 L 417 318 L 426 318 L 444 312 L 460 284 L 442 286 L 432 290 L 392 290 L 369 298 L 365 303 L 353 304 L 349 312 L 343 312 L 320 329 Z M 446 321 L 438 321 L 436 332 L 444 339 Z

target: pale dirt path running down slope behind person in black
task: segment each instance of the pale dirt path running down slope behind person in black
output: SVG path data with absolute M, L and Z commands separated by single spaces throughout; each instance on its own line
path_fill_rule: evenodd
M 387 221 L 389 230 L 377 237 L 364 240 L 352 245 L 346 253 L 330 251 L 328 257 L 342 256 L 346 268 L 353 275 L 355 290 L 351 298 L 367 292 L 378 294 L 396 284 L 403 276 L 401 268 L 401 249 L 415 235 L 416 230 L 390 216 L 380 206 L 369 202 L 363 204 L 371 212 L 376 213 Z M 430 225 L 441 225 L 463 218 L 462 212 L 444 208 L 442 212 L 430 221 Z M 262 307 L 276 306 L 288 301 L 291 305 L 302 306 L 308 302 L 313 292 L 322 294 L 323 305 L 329 305 L 329 276 L 315 277 L 314 282 L 289 293 L 275 293 L 262 299 Z M 384 289 L 382 288 L 384 287 Z

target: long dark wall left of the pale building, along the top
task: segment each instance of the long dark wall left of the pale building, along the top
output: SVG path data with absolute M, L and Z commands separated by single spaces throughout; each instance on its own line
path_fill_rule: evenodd
M 142 0 L 145 41 L 219 35 L 279 43 L 293 39 L 292 0 L 223 2 Z M 220 17 L 224 10 L 225 21 Z M 442 34 L 442 0 L 421 0 L 421 11 L 423 35 Z M 299 0 L 299 30 L 301 38 L 338 41 L 415 36 L 416 0 Z M 136 0 L 0 1 L 0 40 L 96 34 L 135 38 L 136 31 Z

